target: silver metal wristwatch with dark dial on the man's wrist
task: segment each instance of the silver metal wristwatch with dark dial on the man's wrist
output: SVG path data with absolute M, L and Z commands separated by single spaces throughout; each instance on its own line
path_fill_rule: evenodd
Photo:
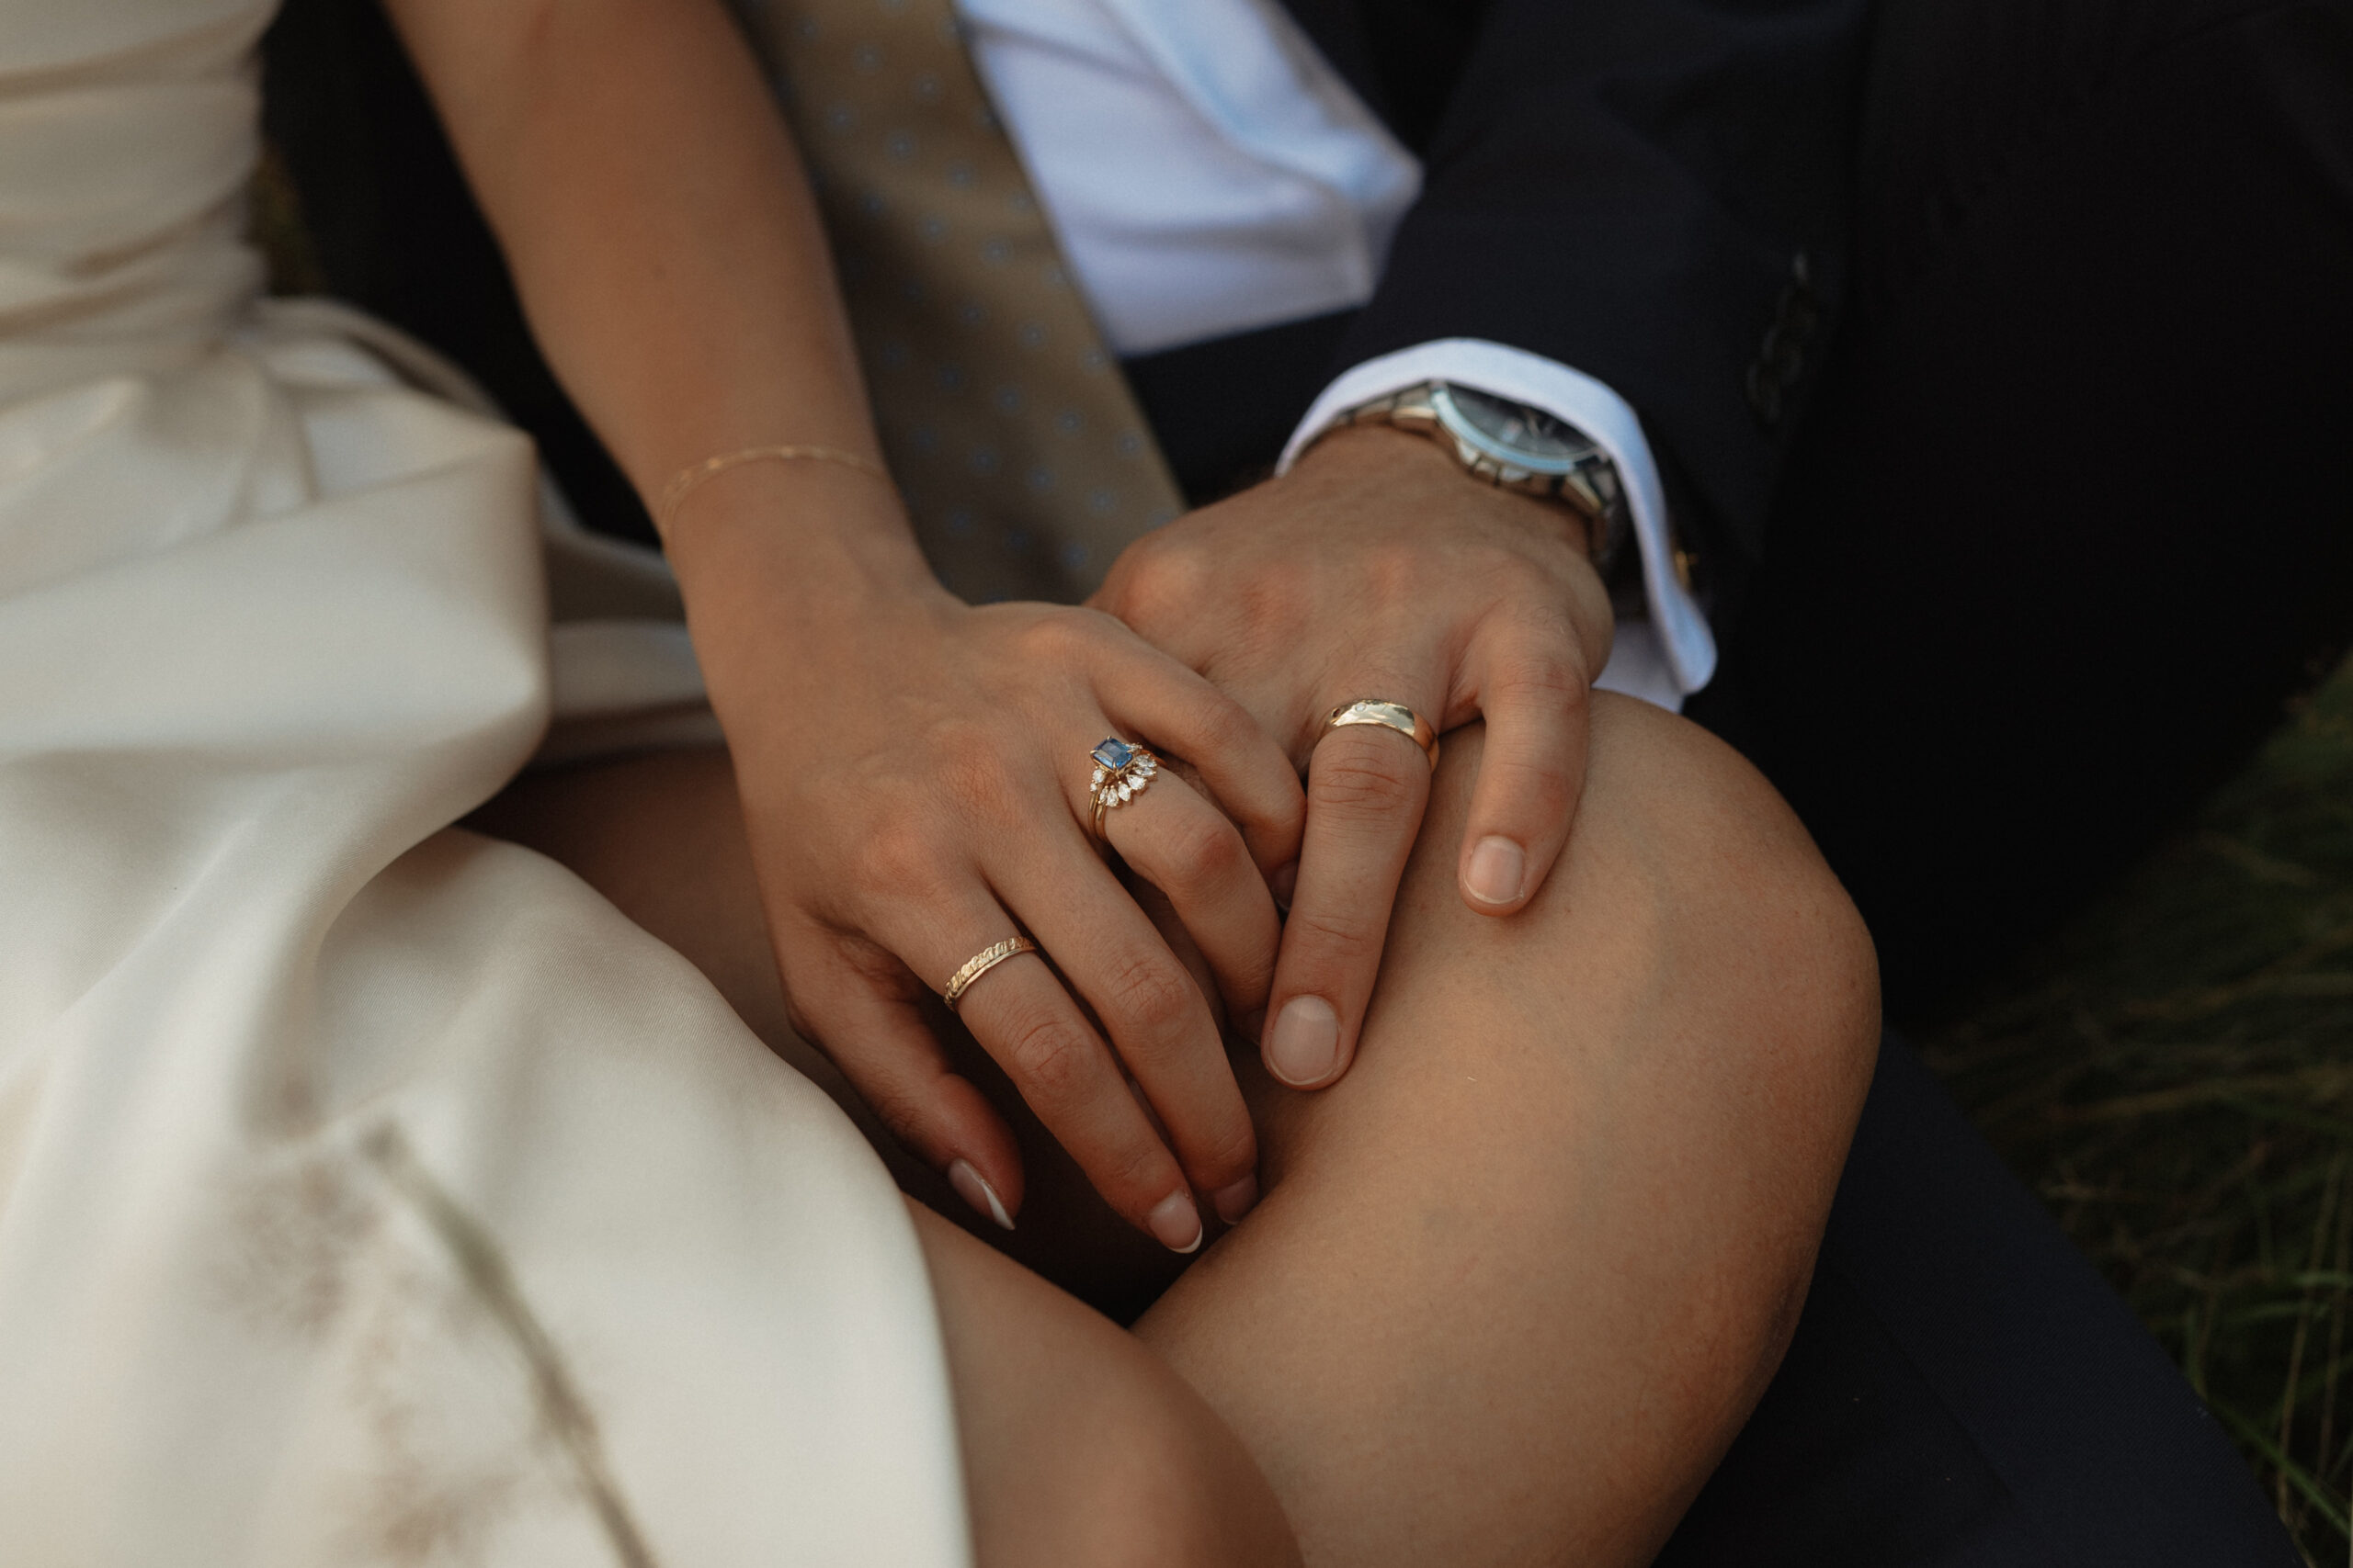
M 1525 402 L 1452 381 L 1424 381 L 1362 402 L 1337 423 L 1428 435 L 1475 480 L 1567 503 L 1586 520 L 1586 555 L 1605 578 L 1631 531 L 1626 487 L 1609 454 L 1577 425 Z

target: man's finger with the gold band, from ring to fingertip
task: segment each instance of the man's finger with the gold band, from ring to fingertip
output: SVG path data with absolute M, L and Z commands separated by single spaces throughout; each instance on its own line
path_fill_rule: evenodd
M 1299 886 L 1259 1039 L 1266 1070 L 1294 1088 L 1322 1088 L 1355 1056 L 1428 799 L 1431 762 L 1412 736 L 1348 724 L 1315 743 Z

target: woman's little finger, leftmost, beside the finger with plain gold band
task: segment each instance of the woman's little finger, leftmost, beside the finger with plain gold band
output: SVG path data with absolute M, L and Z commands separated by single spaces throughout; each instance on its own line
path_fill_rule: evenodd
M 849 1086 L 901 1147 L 948 1178 L 984 1220 L 1012 1229 L 1021 1213 L 1021 1147 L 988 1098 L 948 1067 L 946 1051 L 920 1009 L 878 983 L 873 961 L 856 961 L 833 931 L 779 938 L 793 1027 L 833 1058 Z

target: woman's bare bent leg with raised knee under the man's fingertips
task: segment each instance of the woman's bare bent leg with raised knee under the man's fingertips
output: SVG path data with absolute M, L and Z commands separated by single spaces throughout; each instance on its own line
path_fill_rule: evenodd
M 1508 922 L 1454 893 L 1478 738 L 1449 738 L 1355 1067 L 1254 1077 L 1268 1197 L 1139 1324 L 1311 1563 L 1647 1561 L 1795 1321 L 1871 1074 L 1868 940 L 1732 752 L 1638 703 L 1593 726 L 1569 853 Z M 527 811 L 511 837 L 781 1020 L 732 799 L 692 825 L 708 783 L 680 788 L 708 762 L 616 766 L 605 809 L 553 778 L 482 825 Z

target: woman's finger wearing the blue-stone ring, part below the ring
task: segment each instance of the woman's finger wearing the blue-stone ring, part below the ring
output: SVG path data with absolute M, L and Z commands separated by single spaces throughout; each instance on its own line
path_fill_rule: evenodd
M 1127 867 L 1176 910 L 1228 1016 L 1264 1011 L 1282 922 L 1233 823 L 1169 769 L 1153 773 L 1144 792 L 1115 799 L 1099 820 Z

